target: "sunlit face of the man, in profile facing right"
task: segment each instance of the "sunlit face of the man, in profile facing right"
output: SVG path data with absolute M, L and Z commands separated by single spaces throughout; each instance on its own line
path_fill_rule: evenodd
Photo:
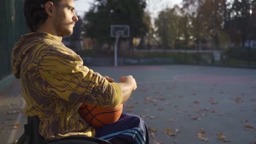
M 54 25 L 59 37 L 66 37 L 73 33 L 75 22 L 78 21 L 74 11 L 74 1 L 65 0 L 57 7 Z

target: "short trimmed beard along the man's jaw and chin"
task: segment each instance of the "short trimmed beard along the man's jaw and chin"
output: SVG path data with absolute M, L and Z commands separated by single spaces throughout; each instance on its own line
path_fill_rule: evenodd
M 56 22 L 56 30 L 59 37 L 66 37 L 68 35 L 73 34 L 73 28 L 69 29 L 69 26 L 73 23 L 64 24 L 65 22 L 62 22 L 62 19 Z M 64 26 L 63 26 L 64 25 Z

